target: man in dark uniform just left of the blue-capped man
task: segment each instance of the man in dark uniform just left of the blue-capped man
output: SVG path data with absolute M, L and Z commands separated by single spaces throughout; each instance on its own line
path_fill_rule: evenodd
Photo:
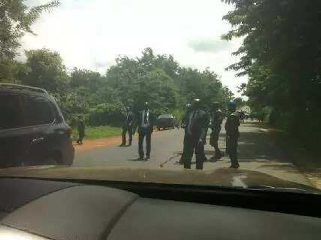
M 219 108 L 220 104 L 219 102 L 213 102 L 212 107 L 212 116 L 211 116 L 211 137 L 210 137 L 210 145 L 214 147 L 215 149 L 215 155 L 212 157 L 212 159 L 220 159 L 223 154 L 219 149 L 218 146 L 218 140 L 219 140 L 219 134 L 221 131 L 221 125 L 223 121 L 223 112 Z

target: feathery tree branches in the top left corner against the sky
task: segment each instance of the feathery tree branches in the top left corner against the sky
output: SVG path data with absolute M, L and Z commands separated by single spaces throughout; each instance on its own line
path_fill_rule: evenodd
M 35 34 L 31 25 L 41 13 L 59 6 L 59 1 L 52 1 L 35 7 L 27 7 L 23 0 L 2 0 L 0 3 L 0 82 L 13 81 L 16 71 L 17 50 L 20 39 L 25 33 Z

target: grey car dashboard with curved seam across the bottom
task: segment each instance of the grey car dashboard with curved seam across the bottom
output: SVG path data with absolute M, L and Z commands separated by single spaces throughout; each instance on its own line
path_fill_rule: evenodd
M 321 236 L 321 219 L 317 217 L 148 198 L 100 185 L 2 178 L 0 193 L 0 239 L 248 240 Z

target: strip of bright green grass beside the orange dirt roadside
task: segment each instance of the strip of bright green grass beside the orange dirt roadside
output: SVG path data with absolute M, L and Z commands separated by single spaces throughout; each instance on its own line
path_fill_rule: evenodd
M 89 127 L 85 129 L 85 139 L 108 138 L 121 135 L 122 129 L 111 126 Z M 78 139 L 78 130 L 73 129 L 72 139 Z

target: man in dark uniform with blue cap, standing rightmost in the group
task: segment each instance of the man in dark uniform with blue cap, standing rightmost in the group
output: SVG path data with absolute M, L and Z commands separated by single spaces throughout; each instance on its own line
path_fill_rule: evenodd
M 230 101 L 228 103 L 229 114 L 225 122 L 225 131 L 226 131 L 226 144 L 228 153 L 231 159 L 230 168 L 239 168 L 238 161 L 238 139 L 239 139 L 239 114 L 236 110 L 236 103 Z

